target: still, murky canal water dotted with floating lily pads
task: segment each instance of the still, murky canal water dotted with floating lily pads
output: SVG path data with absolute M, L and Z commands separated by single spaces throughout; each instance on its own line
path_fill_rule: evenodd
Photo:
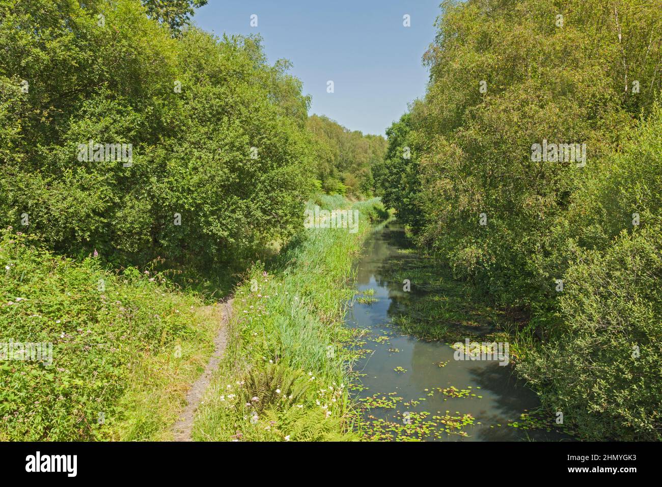
M 367 241 L 363 256 L 357 263 L 356 286 L 359 292 L 373 289 L 372 303 L 354 301 L 346 314 L 346 326 L 365 329 L 365 353 L 353 370 L 359 374 L 363 390 L 355 398 L 385 398 L 391 407 L 369 407 L 364 413 L 367 423 L 380 421 L 382 425 L 402 425 L 411 421 L 410 414 L 420 415 L 436 426 L 426 428 L 416 436 L 428 441 L 559 441 L 565 435 L 547 427 L 524 429 L 522 413 L 530 413 L 540 402 L 538 396 L 517 380 L 511 366 L 496 361 L 458 361 L 449 345 L 438 341 L 423 341 L 403 335 L 391 320 L 397 313 L 406 313 L 414 300 L 422 296 L 412 283 L 411 292 L 402 290 L 402 282 L 389 282 L 393 266 L 406 266 L 416 254 L 403 254 L 399 249 L 410 248 L 402 226 L 391 221 L 377 227 Z M 393 281 L 393 278 L 390 278 Z M 440 366 L 444 364 L 444 366 Z M 444 394 L 454 387 L 463 391 L 462 397 Z M 394 394 L 395 393 L 395 394 Z M 393 404 L 392 398 L 402 398 Z M 383 403 L 384 404 L 384 403 Z M 472 424 L 451 432 L 440 418 L 471 415 Z M 436 419 L 434 419 L 436 418 Z M 448 422 L 448 421 L 447 421 Z M 512 423 L 519 427 L 513 427 Z M 374 423 L 373 423 L 374 424 Z M 384 428 L 383 428 L 384 429 Z M 388 427 L 385 429 L 389 429 Z M 393 428 L 390 428 L 391 430 Z M 397 429 L 397 427 L 396 427 Z M 552 431 L 546 431 L 551 429 Z M 457 431 L 463 433 L 457 433 Z M 383 430 L 382 430 L 383 431 Z M 388 433 L 388 432 L 387 432 Z M 393 439 L 397 439 L 396 433 Z M 384 439 L 382 437 L 381 439 Z M 399 439 L 402 439 L 400 437 Z

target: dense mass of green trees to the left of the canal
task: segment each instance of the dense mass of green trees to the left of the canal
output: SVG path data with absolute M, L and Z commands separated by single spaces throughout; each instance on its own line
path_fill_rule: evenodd
M 383 137 L 309 119 L 259 36 L 187 25 L 200 1 L 142 4 L 0 1 L 3 227 L 77 258 L 205 269 L 286 242 L 316 190 L 373 193 Z

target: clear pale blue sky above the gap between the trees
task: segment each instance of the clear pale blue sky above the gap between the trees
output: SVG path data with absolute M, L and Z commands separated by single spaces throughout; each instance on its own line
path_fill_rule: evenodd
M 208 0 L 195 23 L 220 36 L 261 34 L 273 64 L 286 58 L 312 96 L 311 113 L 351 130 L 384 134 L 422 97 L 421 57 L 435 34 L 441 0 Z M 258 27 L 250 26 L 251 15 Z M 403 27 L 408 14 L 411 27 Z M 326 82 L 334 81 L 334 93 Z

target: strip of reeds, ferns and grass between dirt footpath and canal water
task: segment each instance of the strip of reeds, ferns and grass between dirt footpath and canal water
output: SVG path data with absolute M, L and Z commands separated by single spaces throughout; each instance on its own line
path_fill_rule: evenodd
M 347 208 L 342 197 L 309 205 Z M 342 345 L 352 263 L 371 221 L 385 217 L 378 199 L 354 203 L 356 233 L 310 228 L 279 256 L 256 264 L 235 292 L 230 341 L 198 409 L 193 439 L 319 441 L 355 439 Z

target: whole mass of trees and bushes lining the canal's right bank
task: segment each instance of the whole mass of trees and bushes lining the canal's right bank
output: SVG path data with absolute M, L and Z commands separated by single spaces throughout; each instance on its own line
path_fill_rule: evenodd
M 418 243 L 526 317 L 520 374 L 593 440 L 662 439 L 660 7 L 444 1 L 377 181 Z

